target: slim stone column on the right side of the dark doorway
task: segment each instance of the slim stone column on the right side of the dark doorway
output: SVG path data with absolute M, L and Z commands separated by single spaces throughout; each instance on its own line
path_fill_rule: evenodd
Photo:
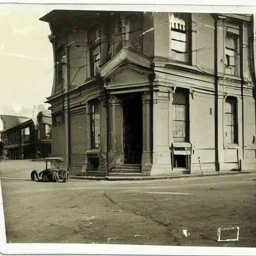
M 150 92 L 144 92 L 142 98 L 142 157 L 141 174 L 149 175 L 151 171 L 151 122 L 150 122 Z

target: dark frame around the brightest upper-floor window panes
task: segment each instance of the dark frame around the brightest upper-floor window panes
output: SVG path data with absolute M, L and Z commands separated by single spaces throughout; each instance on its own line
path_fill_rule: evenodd
M 180 32 L 180 30 L 181 29 L 178 29 L 178 28 L 175 28 L 175 27 L 172 27 L 172 15 L 173 15 L 173 17 L 174 17 L 174 14 L 176 14 L 176 15 L 178 15 L 178 16 L 180 16 L 180 17 L 178 17 L 178 18 L 181 18 L 181 19 L 183 19 L 184 20 L 184 22 L 185 22 L 185 24 L 186 24 L 186 30 L 185 30 L 185 32 L 182 32 L 182 34 L 185 34 L 186 35 L 186 41 L 185 41 L 185 43 L 186 43 L 186 49 L 185 49 L 185 52 L 184 52 L 184 54 L 185 54 L 185 61 L 182 61 L 182 60 L 180 60 L 180 59 L 175 59 L 175 58 L 173 58 L 172 57 L 172 51 L 175 51 L 175 50 L 173 50 L 172 49 L 172 40 L 173 41 L 176 41 L 176 42 L 178 42 L 178 41 L 180 41 L 181 42 L 181 40 L 178 40 L 178 39 L 172 39 L 172 33 L 171 33 L 171 31 L 174 31 L 174 32 L 179 32 L 179 33 L 181 33 Z M 188 65 L 191 65 L 191 63 L 192 63 L 192 46 L 191 46 L 191 42 L 192 42 L 192 30 L 191 30 L 191 19 L 192 17 L 191 17 L 191 13 L 181 13 L 181 12 L 169 12 L 169 19 L 170 19 L 170 22 L 169 22 L 169 31 L 170 31 L 170 35 L 169 35 L 169 43 L 170 43 L 170 45 L 169 45 L 169 50 L 170 50 L 170 59 L 172 60 L 172 61 L 174 61 L 174 62 L 177 62 L 177 63 L 184 63 L 184 64 L 188 64 Z M 173 22 L 174 23 L 174 22 Z M 175 24 L 175 23 L 174 23 Z M 183 31 L 183 30 L 182 30 Z M 182 41 L 182 42 L 184 42 L 184 41 Z M 178 53 L 178 52 L 176 52 L 176 53 Z

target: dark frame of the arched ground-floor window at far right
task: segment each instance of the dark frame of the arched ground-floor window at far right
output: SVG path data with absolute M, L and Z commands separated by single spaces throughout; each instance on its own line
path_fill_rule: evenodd
M 233 104 L 233 107 L 230 107 L 231 109 L 231 112 L 226 112 L 226 104 L 229 103 L 229 104 Z M 233 112 L 232 112 L 232 108 L 233 108 Z M 232 123 L 228 123 L 227 124 L 227 116 L 228 115 L 231 115 L 231 122 Z M 229 129 L 227 129 L 227 126 L 229 127 L 230 126 L 230 134 L 228 136 L 227 132 Z M 233 132 L 232 132 L 232 128 L 233 127 Z M 231 95 L 228 95 L 225 97 L 225 100 L 224 100 L 224 140 L 225 140 L 225 144 L 226 145 L 238 145 L 238 100 L 237 100 L 237 97 L 235 96 L 231 96 Z M 233 133 L 233 139 L 232 139 L 232 133 Z M 230 141 L 227 140 L 227 138 L 230 138 Z

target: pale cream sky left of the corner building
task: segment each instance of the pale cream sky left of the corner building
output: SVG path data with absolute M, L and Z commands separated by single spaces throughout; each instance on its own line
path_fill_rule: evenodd
M 33 105 L 38 106 L 50 96 L 53 78 L 52 46 L 47 37 L 50 29 L 47 22 L 38 20 L 46 13 L 47 5 L 0 8 L 1 114 L 18 113 L 21 106 L 29 112 Z

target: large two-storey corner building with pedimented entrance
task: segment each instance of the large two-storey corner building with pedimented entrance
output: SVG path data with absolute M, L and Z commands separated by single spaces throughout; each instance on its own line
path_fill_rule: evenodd
M 40 19 L 55 62 L 52 155 L 72 173 L 195 173 L 198 159 L 204 172 L 255 169 L 252 15 L 53 10 Z

